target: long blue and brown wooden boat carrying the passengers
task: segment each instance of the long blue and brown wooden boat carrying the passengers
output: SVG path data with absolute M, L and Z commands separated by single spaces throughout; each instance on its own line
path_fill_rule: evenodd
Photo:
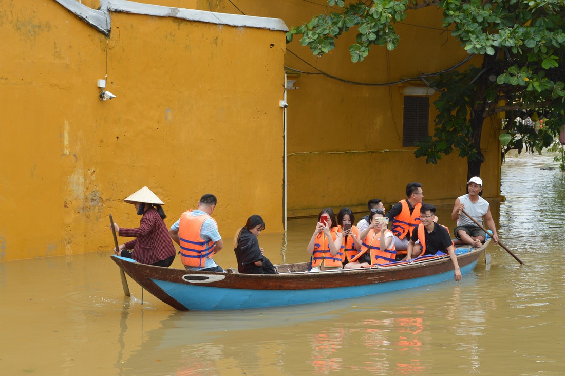
M 480 248 L 455 248 L 462 275 L 477 264 Z M 426 256 L 379 267 L 308 272 L 308 262 L 277 265 L 279 274 L 212 273 L 145 265 L 112 255 L 119 267 L 158 299 L 178 310 L 264 308 L 373 295 L 453 280 L 449 256 Z

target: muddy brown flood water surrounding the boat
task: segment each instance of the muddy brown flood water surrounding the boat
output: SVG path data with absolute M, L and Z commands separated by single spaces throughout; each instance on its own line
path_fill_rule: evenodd
M 124 297 L 109 250 L 0 263 L 0 375 L 563 375 L 565 175 L 547 155 L 508 158 L 502 194 L 498 234 L 527 265 L 490 245 L 459 283 L 363 299 L 178 312 L 129 277 Z M 259 241 L 274 263 L 306 261 L 314 227 Z M 215 260 L 236 266 L 224 240 Z

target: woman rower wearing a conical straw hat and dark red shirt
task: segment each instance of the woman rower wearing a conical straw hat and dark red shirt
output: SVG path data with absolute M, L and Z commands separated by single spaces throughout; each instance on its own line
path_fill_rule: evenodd
M 176 250 L 169 229 L 163 222 L 167 217 L 161 208 L 164 202 L 147 187 L 141 188 L 124 201 L 133 204 L 137 214 L 142 217 L 140 227 L 136 228 L 120 228 L 114 223 L 114 229 L 120 236 L 135 238 L 120 244 L 119 249 L 114 248 L 114 253 L 149 265 L 171 266 L 175 260 Z

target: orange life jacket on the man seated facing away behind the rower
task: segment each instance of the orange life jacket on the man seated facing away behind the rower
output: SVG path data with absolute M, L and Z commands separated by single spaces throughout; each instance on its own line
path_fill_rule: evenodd
M 204 267 L 206 259 L 212 258 L 216 243 L 212 239 L 202 239 L 200 229 L 206 219 L 216 221 L 208 214 L 190 215 L 191 211 L 185 211 L 180 216 L 180 261 L 186 266 Z

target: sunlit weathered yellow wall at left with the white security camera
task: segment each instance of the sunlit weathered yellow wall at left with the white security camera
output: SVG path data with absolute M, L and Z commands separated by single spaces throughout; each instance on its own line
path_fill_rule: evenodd
M 284 32 L 113 13 L 107 38 L 4 0 L 0 33 L 0 260 L 111 249 L 144 185 L 169 226 L 210 192 L 225 237 L 255 213 L 282 230 Z

